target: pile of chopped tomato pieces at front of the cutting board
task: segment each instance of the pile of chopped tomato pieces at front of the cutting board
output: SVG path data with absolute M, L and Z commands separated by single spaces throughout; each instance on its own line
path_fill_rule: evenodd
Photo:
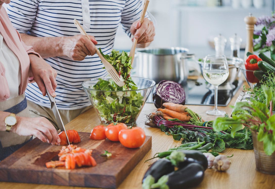
M 62 146 L 58 153 L 58 161 L 46 162 L 47 168 L 65 166 L 66 169 L 75 169 L 76 166 L 96 166 L 97 163 L 92 157 L 92 150 L 77 147 L 70 144 L 67 147 Z

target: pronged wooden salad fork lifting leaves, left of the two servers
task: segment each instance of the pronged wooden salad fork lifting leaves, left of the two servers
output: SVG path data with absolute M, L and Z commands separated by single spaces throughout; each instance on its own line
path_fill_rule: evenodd
M 86 31 L 83 29 L 83 27 L 79 24 L 79 22 L 74 19 L 73 20 L 73 23 L 75 23 L 77 29 L 79 30 L 79 32 L 82 34 L 82 35 L 86 35 L 87 38 L 89 38 L 90 40 L 90 37 L 89 35 L 86 33 Z M 116 69 L 114 68 L 114 66 L 111 65 L 110 62 L 108 62 L 104 56 L 100 53 L 100 51 L 95 48 L 95 51 L 98 55 L 98 57 L 100 58 L 100 60 L 102 61 L 104 67 L 106 68 L 107 72 L 109 73 L 109 75 L 111 76 L 111 78 L 114 80 L 114 82 L 119 86 L 119 87 L 122 87 L 123 85 L 125 85 L 125 82 L 120 80 L 120 77 L 119 77 L 119 74 L 117 73 Z

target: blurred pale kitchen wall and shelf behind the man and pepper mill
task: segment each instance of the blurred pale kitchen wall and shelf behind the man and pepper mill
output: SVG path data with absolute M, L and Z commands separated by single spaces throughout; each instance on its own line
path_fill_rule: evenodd
M 150 0 L 147 10 L 156 21 L 150 48 L 184 47 L 204 57 L 215 53 L 213 38 L 221 34 L 227 39 L 225 55 L 230 56 L 229 38 L 234 34 L 243 39 L 241 49 L 246 45 L 244 17 L 270 16 L 274 0 Z M 119 28 L 114 49 L 130 51 L 131 44 Z

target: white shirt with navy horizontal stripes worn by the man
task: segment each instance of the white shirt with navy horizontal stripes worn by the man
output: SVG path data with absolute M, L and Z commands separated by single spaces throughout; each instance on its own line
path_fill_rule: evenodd
M 98 41 L 97 48 L 109 54 L 120 23 L 130 37 L 131 24 L 139 20 L 141 14 L 142 0 L 12 0 L 6 10 L 20 33 L 36 37 L 79 35 L 73 23 L 76 19 L 87 34 Z M 66 56 L 45 60 L 58 74 L 57 107 L 73 110 L 90 105 L 81 83 L 107 74 L 99 57 L 95 54 L 82 61 Z M 36 83 L 29 84 L 25 93 L 28 100 L 50 107 L 48 97 L 42 95 Z

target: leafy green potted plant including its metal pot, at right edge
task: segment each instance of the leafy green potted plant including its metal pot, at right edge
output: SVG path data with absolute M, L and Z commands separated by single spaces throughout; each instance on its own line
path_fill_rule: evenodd
M 275 76 L 259 87 L 251 89 L 250 102 L 237 102 L 233 108 L 232 118 L 219 117 L 213 122 L 214 130 L 231 128 L 231 135 L 248 126 L 252 133 L 256 170 L 275 174 Z

